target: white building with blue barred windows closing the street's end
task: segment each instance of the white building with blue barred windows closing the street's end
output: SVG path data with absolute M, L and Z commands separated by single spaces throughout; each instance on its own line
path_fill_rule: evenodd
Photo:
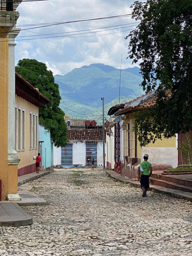
M 92 124 L 84 119 L 68 121 L 68 144 L 63 148 L 54 148 L 54 165 L 89 167 L 94 159 L 95 167 L 103 166 L 102 126 L 97 126 L 95 122 Z

